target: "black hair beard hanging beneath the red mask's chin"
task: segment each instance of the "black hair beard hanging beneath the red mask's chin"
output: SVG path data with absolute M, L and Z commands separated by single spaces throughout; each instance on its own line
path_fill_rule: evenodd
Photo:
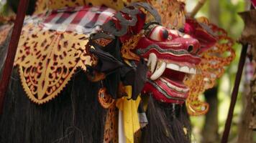
M 188 143 L 191 142 L 191 125 L 185 104 L 165 104 L 150 96 L 147 105 L 147 126 L 142 129 L 145 143 Z M 184 129 L 187 129 L 185 134 Z

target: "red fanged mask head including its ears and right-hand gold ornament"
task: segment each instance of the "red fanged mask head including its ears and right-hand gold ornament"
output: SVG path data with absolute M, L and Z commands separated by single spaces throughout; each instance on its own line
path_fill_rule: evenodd
M 209 106 L 199 101 L 198 94 L 212 87 L 223 74 L 223 66 L 234 59 L 232 39 L 204 18 L 187 19 L 184 29 L 178 31 L 161 26 L 157 19 L 146 23 L 142 17 L 137 16 L 136 26 L 120 36 L 124 59 L 147 61 L 149 70 L 142 94 L 176 104 L 191 96 L 188 111 L 206 113 Z

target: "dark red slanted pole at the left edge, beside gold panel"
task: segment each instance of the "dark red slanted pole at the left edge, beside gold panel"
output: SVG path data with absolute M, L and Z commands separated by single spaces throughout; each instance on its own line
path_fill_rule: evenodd
M 12 68 L 14 65 L 14 58 L 19 44 L 19 36 L 22 31 L 24 17 L 26 15 L 29 0 L 20 0 L 17 11 L 17 16 L 14 22 L 14 29 L 9 43 L 9 49 L 4 63 L 3 74 L 0 81 L 0 114 L 3 112 L 4 97 L 8 89 L 9 79 L 12 75 Z

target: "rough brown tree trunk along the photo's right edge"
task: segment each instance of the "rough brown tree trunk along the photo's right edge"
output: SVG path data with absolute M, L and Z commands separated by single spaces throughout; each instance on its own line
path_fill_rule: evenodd
M 238 142 L 248 142 L 251 143 L 253 137 L 253 129 L 256 129 L 256 73 L 255 73 L 255 60 L 256 60 L 256 19 L 252 19 L 252 17 L 256 16 L 256 10 L 245 11 L 240 14 L 242 19 L 244 20 L 244 31 L 242 32 L 242 36 L 240 41 L 242 44 L 250 44 L 248 51 L 248 57 L 250 61 L 247 61 L 245 65 L 245 76 L 248 79 L 247 84 L 249 89 L 249 93 L 244 94 L 244 112 L 242 114 L 242 119 L 239 124 L 239 132 L 238 132 Z M 247 70 L 252 69 L 252 70 Z M 251 73 L 250 71 L 254 71 Z M 248 78 L 249 77 L 249 78 Z

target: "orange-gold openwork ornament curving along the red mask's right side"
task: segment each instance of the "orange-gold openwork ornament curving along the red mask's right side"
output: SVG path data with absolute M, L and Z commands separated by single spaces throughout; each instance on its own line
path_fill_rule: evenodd
M 216 79 L 224 74 L 224 66 L 229 65 L 235 56 L 232 49 L 234 41 L 227 36 L 227 32 L 224 29 L 210 24 L 209 20 L 204 17 L 198 19 L 198 21 L 208 25 L 214 31 L 218 42 L 214 47 L 202 53 L 201 63 L 197 67 L 201 73 L 196 74 L 193 80 L 186 82 L 190 88 L 189 96 L 186 100 L 188 113 L 195 116 L 206 114 L 209 109 L 209 104 L 198 99 L 199 94 L 206 89 L 214 87 Z

